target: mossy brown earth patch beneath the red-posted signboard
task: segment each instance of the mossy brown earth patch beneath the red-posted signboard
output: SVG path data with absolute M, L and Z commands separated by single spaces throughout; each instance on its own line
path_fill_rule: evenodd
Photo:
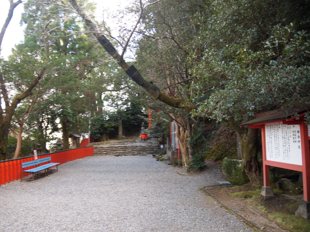
M 250 185 L 209 188 L 206 192 L 223 204 L 233 205 L 236 209 L 240 203 L 242 208 L 240 212 L 238 210 L 237 212 L 241 214 L 243 214 L 242 210 L 248 207 L 253 212 L 276 223 L 280 228 L 290 232 L 310 232 L 310 220 L 295 216 L 299 203 L 303 199 L 302 195 L 296 196 L 287 191 L 274 189 L 275 197 L 265 201 L 260 195 L 260 187 Z

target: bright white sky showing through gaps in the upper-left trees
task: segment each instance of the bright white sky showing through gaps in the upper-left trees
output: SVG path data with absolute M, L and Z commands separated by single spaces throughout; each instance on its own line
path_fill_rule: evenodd
M 17 0 L 14 0 L 16 2 Z M 25 1 L 24 1 L 25 2 Z M 90 0 L 90 2 L 97 3 L 97 15 L 102 17 L 102 7 L 104 6 L 105 9 L 111 9 L 115 11 L 116 9 L 123 8 L 127 6 L 132 0 Z M 8 0 L 0 0 L 0 27 L 2 28 L 5 19 L 7 18 L 7 13 L 10 7 L 10 2 Z M 7 57 L 11 54 L 11 49 L 16 45 L 19 44 L 20 41 L 24 39 L 23 27 L 20 27 L 20 16 L 24 12 L 23 4 L 19 4 L 13 13 L 13 17 L 11 22 L 7 28 L 7 31 L 4 35 L 2 41 L 2 51 L 1 56 Z M 99 20 L 100 21 L 100 20 Z M 108 26 L 110 26 L 107 20 Z M 110 26 L 111 27 L 111 26 Z

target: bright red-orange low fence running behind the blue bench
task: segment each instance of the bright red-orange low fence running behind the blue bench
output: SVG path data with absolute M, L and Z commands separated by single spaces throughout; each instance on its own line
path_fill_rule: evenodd
M 94 147 L 74 148 L 61 152 L 54 152 L 48 154 L 38 155 L 38 158 L 51 157 L 53 163 L 66 163 L 68 161 L 92 156 L 94 154 Z M 34 157 L 24 157 L 14 160 L 0 161 L 0 185 L 9 183 L 21 178 L 21 163 L 33 161 Z M 29 175 L 29 174 L 28 174 Z M 27 176 L 27 174 L 26 174 Z

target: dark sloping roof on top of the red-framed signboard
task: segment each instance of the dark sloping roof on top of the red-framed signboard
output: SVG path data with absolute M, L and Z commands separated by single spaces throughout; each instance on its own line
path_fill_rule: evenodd
M 247 126 L 247 125 L 253 125 L 253 124 L 259 124 L 263 122 L 271 122 L 271 121 L 276 121 L 276 120 L 281 120 L 281 119 L 288 119 L 288 118 L 294 118 L 296 117 L 296 114 L 299 116 L 303 116 L 305 112 L 310 110 L 309 105 L 298 105 L 294 106 L 292 109 L 279 109 L 279 110 L 272 110 L 272 111 L 267 111 L 259 114 L 255 114 L 255 118 L 240 124 L 239 126 Z M 289 116 L 287 116 L 289 115 Z

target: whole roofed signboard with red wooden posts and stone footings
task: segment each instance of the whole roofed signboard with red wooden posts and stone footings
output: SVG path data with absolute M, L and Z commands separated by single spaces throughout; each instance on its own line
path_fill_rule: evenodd
M 267 195 L 269 194 L 269 197 L 273 195 L 269 183 L 270 166 L 302 172 L 304 201 L 301 202 L 296 215 L 307 219 L 310 218 L 310 131 L 308 131 L 309 127 L 305 123 L 304 116 L 308 110 L 307 108 L 303 111 L 296 111 L 295 113 L 299 114 L 298 117 L 285 117 L 284 111 L 279 110 L 265 112 L 258 115 L 256 119 L 240 125 L 241 127 L 248 126 L 250 128 L 261 129 L 264 180 L 262 192 L 268 188 L 269 193 Z M 296 127 L 285 127 L 281 125 L 296 125 Z M 282 131 L 282 128 L 284 128 L 283 131 L 285 132 Z M 279 131 L 279 135 L 275 134 L 277 131 Z M 277 146 L 281 146 L 281 149 Z M 299 148 L 301 151 L 298 150 Z M 275 155 L 275 153 L 278 154 Z M 265 199 L 268 198 L 265 197 Z

